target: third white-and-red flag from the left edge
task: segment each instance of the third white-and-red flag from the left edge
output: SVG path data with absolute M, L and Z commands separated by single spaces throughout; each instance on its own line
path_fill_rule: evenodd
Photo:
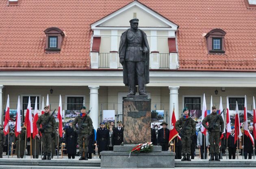
M 27 107 L 27 111 L 26 111 L 24 125 L 27 128 L 27 138 L 28 138 L 28 137 L 31 136 L 31 133 L 33 133 L 33 120 L 32 120 L 32 110 L 31 110 L 30 96 L 28 97 L 28 107 Z

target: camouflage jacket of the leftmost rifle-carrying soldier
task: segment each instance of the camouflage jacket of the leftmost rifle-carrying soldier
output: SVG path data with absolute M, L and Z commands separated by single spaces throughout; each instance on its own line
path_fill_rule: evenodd
M 39 116 L 38 120 L 37 120 L 37 128 L 38 130 L 40 129 L 40 125 L 42 125 L 42 128 L 46 125 L 43 133 L 56 133 L 56 121 L 54 116 L 50 117 L 49 123 L 46 124 L 49 116 L 51 115 L 51 113 L 44 113 L 41 116 Z

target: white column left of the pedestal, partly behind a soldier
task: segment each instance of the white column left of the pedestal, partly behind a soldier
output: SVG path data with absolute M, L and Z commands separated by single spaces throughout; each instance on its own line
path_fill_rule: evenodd
M 97 129 L 99 127 L 99 99 L 98 99 L 98 89 L 99 86 L 88 86 L 90 89 L 90 106 L 89 109 L 91 109 L 90 117 L 93 121 L 93 127 L 94 129 Z

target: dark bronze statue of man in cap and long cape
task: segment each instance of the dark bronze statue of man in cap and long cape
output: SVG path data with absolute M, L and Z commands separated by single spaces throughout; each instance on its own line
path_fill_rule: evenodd
M 121 35 L 119 45 L 120 63 L 123 65 L 124 84 L 129 87 L 128 95 L 146 95 L 145 85 L 149 83 L 149 45 L 147 35 L 138 29 L 139 19 L 131 19 L 131 28 Z

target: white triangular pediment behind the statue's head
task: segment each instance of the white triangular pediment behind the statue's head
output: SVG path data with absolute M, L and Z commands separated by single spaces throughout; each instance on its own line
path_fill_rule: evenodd
M 178 25 L 140 2 L 134 1 L 91 24 L 92 30 L 107 27 L 130 27 L 130 19 L 139 19 L 139 27 L 177 30 Z

